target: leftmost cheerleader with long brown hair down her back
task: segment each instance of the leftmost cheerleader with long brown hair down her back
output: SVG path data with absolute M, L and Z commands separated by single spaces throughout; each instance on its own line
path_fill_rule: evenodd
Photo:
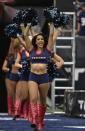
M 18 45 L 16 39 L 11 38 L 9 52 L 2 67 L 2 70 L 6 73 L 5 83 L 7 88 L 8 114 L 12 116 L 14 115 L 16 83 L 19 79 L 18 70 L 14 66 L 17 50 Z

